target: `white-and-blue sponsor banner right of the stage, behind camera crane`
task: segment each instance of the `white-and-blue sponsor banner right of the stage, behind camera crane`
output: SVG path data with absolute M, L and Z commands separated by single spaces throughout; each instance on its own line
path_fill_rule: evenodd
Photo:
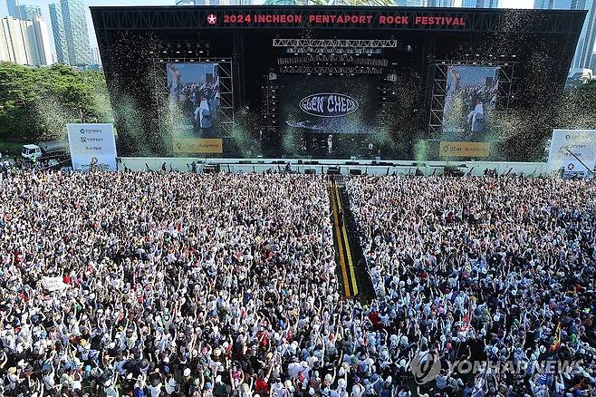
M 588 178 L 596 165 L 595 130 L 553 130 L 548 169 L 562 178 Z

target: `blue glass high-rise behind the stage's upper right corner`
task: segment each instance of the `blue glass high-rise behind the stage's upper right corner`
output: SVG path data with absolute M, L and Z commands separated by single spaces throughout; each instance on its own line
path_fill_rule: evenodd
M 596 43 L 596 0 L 534 0 L 534 8 L 549 10 L 588 10 L 582 33 L 575 48 L 572 68 L 588 68 L 591 65 Z

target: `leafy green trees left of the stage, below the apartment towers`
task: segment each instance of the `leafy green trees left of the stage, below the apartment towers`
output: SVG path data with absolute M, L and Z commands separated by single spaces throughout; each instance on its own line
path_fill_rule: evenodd
M 103 73 L 0 63 L 0 141 L 65 139 L 77 121 L 113 121 Z

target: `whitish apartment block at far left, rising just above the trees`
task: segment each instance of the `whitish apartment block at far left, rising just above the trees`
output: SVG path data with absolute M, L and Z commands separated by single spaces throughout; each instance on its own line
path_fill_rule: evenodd
M 0 61 L 28 65 L 52 64 L 47 25 L 41 16 L 22 21 L 8 16 L 0 26 Z

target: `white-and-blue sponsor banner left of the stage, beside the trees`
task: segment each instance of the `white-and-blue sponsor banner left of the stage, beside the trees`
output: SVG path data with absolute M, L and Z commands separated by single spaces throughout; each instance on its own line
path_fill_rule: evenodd
M 113 124 L 66 124 L 72 169 L 116 170 L 116 140 Z

